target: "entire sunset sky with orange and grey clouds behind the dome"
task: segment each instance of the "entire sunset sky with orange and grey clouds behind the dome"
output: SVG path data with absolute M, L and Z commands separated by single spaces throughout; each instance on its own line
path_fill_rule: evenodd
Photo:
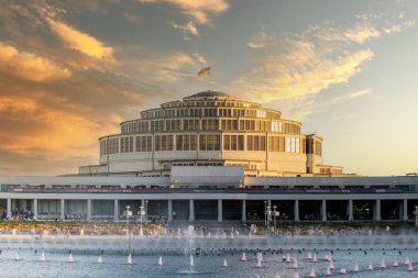
M 326 165 L 416 173 L 417 21 L 414 0 L 0 0 L 0 175 L 77 173 L 121 121 L 207 89 L 301 121 Z

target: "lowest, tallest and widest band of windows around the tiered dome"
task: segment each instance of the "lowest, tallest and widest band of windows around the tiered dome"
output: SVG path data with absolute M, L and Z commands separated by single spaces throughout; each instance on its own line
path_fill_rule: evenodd
M 199 136 L 199 138 L 198 138 Z M 199 140 L 199 145 L 198 145 Z M 155 135 L 154 151 L 220 151 L 220 135 L 218 134 L 183 134 L 183 135 Z M 133 144 L 135 141 L 135 145 Z M 120 148 L 119 148 L 120 142 Z M 305 146 L 306 143 L 306 146 Z M 310 151 L 309 144 L 316 144 L 316 154 L 320 155 L 321 143 L 312 140 L 285 136 L 268 136 L 270 152 L 305 153 Z M 224 134 L 222 141 L 223 151 L 256 151 L 264 152 L 267 147 L 265 135 L 235 135 Z M 152 152 L 153 136 L 125 136 L 109 138 L 100 142 L 100 155 Z

